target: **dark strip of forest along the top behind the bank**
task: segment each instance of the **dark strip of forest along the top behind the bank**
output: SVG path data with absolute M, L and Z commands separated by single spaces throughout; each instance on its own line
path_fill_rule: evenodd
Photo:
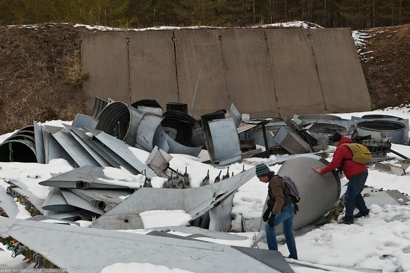
M 410 23 L 410 0 L 0 0 L 0 25 L 248 27 L 304 20 L 364 29 Z

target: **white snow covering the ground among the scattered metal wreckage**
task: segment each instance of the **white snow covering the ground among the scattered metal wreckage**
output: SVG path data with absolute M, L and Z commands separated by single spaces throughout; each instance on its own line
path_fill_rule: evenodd
M 410 118 L 410 108 L 408 106 L 389 108 L 371 112 L 335 114 L 342 118 L 351 118 L 351 116 L 362 116 L 365 114 L 385 114 L 393 115 L 402 118 Z M 57 125 L 61 121 L 53 121 L 53 125 Z M 64 122 L 66 123 L 66 122 Z M 0 142 L 10 134 L 0 136 Z M 410 146 L 393 144 L 393 150 L 410 157 Z M 203 155 L 203 153 L 201 153 Z M 144 160 L 148 156 L 146 153 L 136 153 L 136 155 Z M 389 154 L 390 155 L 390 154 Z M 191 178 L 193 186 L 199 186 L 202 179 L 207 175 L 209 170 L 210 182 L 222 171 L 226 174 L 227 168 L 218 169 L 211 165 L 201 163 L 201 160 L 186 155 L 173 155 L 174 158 L 170 164 L 173 169 L 187 172 Z M 328 160 L 331 160 L 333 154 L 330 153 Z M 394 156 L 394 154 L 391 154 Z M 275 156 L 271 156 L 274 159 Z M 229 172 L 234 174 L 242 171 L 242 167 L 249 169 L 251 163 L 263 162 L 268 159 L 251 158 L 243 160 L 241 163 L 235 163 L 229 166 Z M 391 163 L 401 160 L 391 160 Z M 271 166 L 271 170 L 278 171 L 280 165 Z M 113 169 L 113 168 L 112 168 Z M 36 163 L 0 163 L 0 186 L 2 190 L 8 186 L 5 180 L 18 180 L 26 184 L 31 192 L 39 198 L 45 198 L 48 193 L 48 187 L 38 185 L 38 182 L 50 177 L 50 173 L 67 172 L 72 170 L 72 167 L 63 160 L 54 160 L 50 164 Z M 121 177 L 128 181 L 127 183 L 141 184 L 144 182 L 142 178 L 132 176 L 123 170 L 110 170 L 107 175 Z M 342 184 L 347 180 L 343 178 Z M 157 186 L 161 185 L 161 181 Z M 384 190 L 399 190 L 402 193 L 410 194 L 410 170 L 406 170 L 406 175 L 397 176 L 377 170 L 370 170 L 366 185 Z M 259 182 L 256 178 L 252 178 L 238 189 L 234 196 L 234 208 L 232 215 L 233 229 L 240 229 L 241 217 L 244 218 L 259 218 L 262 213 L 263 203 L 267 195 L 266 185 Z M 125 198 L 125 197 L 124 197 Z M 18 202 L 17 202 L 18 203 Z M 25 219 L 30 215 L 20 205 L 20 213 L 18 218 Z M 372 205 L 371 213 L 368 217 L 357 219 L 354 225 L 341 225 L 336 222 L 326 224 L 320 227 L 306 227 L 296 232 L 296 246 L 298 256 L 301 261 L 321 263 L 334 266 L 354 266 L 361 268 L 383 269 L 385 272 L 394 271 L 409 271 L 410 272 L 410 206 Z M 189 221 L 189 215 L 183 211 L 172 212 L 172 217 L 167 217 L 166 223 L 163 223 L 163 211 L 146 212 L 144 215 L 144 225 L 146 229 L 141 230 L 124 230 L 127 232 L 147 233 L 150 227 L 164 226 L 169 224 L 185 224 Z M 81 226 L 84 226 L 84 221 Z M 84 228 L 84 227 L 78 227 Z M 181 235 L 181 234 L 178 234 Z M 188 235 L 188 234 L 187 234 Z M 240 241 L 242 246 L 250 246 L 253 242 L 254 233 L 242 233 L 247 237 L 247 240 Z M 183 235 L 182 235 L 183 236 Z M 257 236 L 257 234 L 256 234 Z M 279 236 L 279 240 L 282 236 Z M 209 238 L 202 238 L 210 241 Z M 238 241 L 225 241 L 212 239 L 212 242 L 222 244 L 238 244 Z M 263 242 L 259 242 L 260 248 L 267 248 Z M 5 246 L 0 245 L 3 249 Z M 283 256 L 288 256 L 286 245 L 279 245 L 279 251 Z M 25 267 L 25 262 L 21 256 L 11 258 L 11 252 L 0 251 L 0 268 L 1 267 Z M 111 267 L 106 267 L 104 272 L 123 271 L 128 272 L 132 268 L 139 268 L 145 272 L 182 272 L 178 268 L 158 267 L 150 264 L 115 264 Z M 335 270 L 333 269 L 331 270 Z M 300 267 L 293 267 L 296 272 L 306 272 Z M 321 271 L 319 269 L 309 269 L 312 272 Z M 336 270 L 338 271 L 338 270 Z M 340 268 L 340 271 L 345 269 Z

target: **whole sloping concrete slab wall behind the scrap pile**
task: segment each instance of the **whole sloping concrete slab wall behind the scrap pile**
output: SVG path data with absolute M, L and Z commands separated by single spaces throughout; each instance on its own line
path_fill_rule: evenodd
M 235 103 L 251 116 L 371 110 L 350 29 L 198 29 L 82 36 L 87 111 L 98 95 L 184 102 L 194 116 Z

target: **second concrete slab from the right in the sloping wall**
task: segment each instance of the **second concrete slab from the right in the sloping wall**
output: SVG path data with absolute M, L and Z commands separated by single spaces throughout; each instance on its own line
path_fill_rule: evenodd
M 266 29 L 281 116 L 323 114 L 324 102 L 306 29 Z

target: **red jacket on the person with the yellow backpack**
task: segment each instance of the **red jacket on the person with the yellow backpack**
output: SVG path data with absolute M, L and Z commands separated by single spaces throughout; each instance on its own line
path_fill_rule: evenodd
M 342 159 L 352 159 L 353 153 L 345 145 L 341 145 L 343 143 L 353 143 L 352 139 L 342 136 L 339 141 L 339 146 L 337 147 L 335 153 L 333 154 L 332 162 L 327 164 L 320 173 L 322 175 L 332 172 L 333 170 L 337 169 L 340 164 L 342 163 Z M 367 167 L 365 164 L 356 163 L 353 160 L 344 160 L 343 164 L 343 173 L 347 179 L 350 179 L 352 176 L 361 174 L 367 171 Z

